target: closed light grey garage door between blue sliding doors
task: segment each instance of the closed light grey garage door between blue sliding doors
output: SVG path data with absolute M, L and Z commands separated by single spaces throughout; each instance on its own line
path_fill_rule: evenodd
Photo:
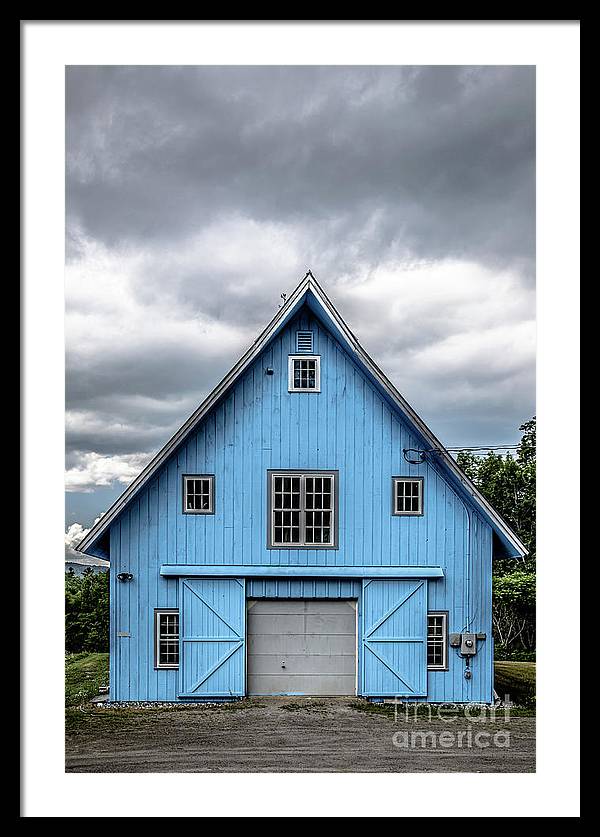
M 248 694 L 356 694 L 356 603 L 248 602 Z

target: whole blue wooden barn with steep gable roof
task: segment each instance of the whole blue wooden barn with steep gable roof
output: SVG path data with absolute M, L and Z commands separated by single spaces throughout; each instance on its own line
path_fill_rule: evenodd
M 492 558 L 525 548 L 308 273 L 79 550 L 110 699 L 493 700 Z

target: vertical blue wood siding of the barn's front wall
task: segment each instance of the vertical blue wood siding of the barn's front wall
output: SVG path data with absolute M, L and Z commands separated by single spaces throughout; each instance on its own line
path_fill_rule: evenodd
M 288 392 L 297 330 L 314 333 L 320 393 Z M 442 566 L 444 578 L 426 582 L 428 608 L 447 610 L 452 632 L 488 635 L 472 680 L 450 649 L 449 671 L 427 674 L 427 699 L 489 702 L 492 531 L 468 499 L 467 512 L 434 461 L 404 460 L 403 448 L 420 447 L 403 416 L 303 308 L 111 526 L 111 699 L 178 699 L 178 672 L 154 667 L 154 608 L 180 606 L 178 580 L 161 577 L 162 564 L 306 566 L 306 581 L 248 582 L 251 597 L 299 598 L 354 597 L 360 579 L 336 581 L 336 567 L 401 564 Z M 267 548 L 267 471 L 277 468 L 339 471 L 339 548 Z M 214 514 L 182 513 L 184 473 L 215 475 Z M 423 477 L 422 516 L 391 514 L 398 475 Z M 332 582 L 310 580 L 310 566 L 331 567 Z M 122 571 L 133 580 L 115 581 Z

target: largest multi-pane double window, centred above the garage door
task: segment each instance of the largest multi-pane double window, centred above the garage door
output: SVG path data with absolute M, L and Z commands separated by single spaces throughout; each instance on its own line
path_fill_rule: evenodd
M 270 546 L 336 545 L 335 474 L 270 473 Z

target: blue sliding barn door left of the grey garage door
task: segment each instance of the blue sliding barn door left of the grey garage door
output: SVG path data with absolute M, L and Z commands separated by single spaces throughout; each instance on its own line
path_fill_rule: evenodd
M 244 581 L 237 578 L 183 578 L 179 592 L 179 696 L 244 695 Z

